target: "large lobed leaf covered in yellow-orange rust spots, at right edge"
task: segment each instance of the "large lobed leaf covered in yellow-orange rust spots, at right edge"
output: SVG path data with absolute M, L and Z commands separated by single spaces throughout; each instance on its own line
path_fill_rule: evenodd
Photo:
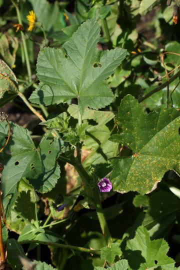
M 133 96 L 124 97 L 115 117 L 119 131 L 110 140 L 128 146 L 133 155 L 110 160 L 114 190 L 144 194 L 169 169 L 179 172 L 179 116 L 178 110 L 161 107 L 145 114 Z

